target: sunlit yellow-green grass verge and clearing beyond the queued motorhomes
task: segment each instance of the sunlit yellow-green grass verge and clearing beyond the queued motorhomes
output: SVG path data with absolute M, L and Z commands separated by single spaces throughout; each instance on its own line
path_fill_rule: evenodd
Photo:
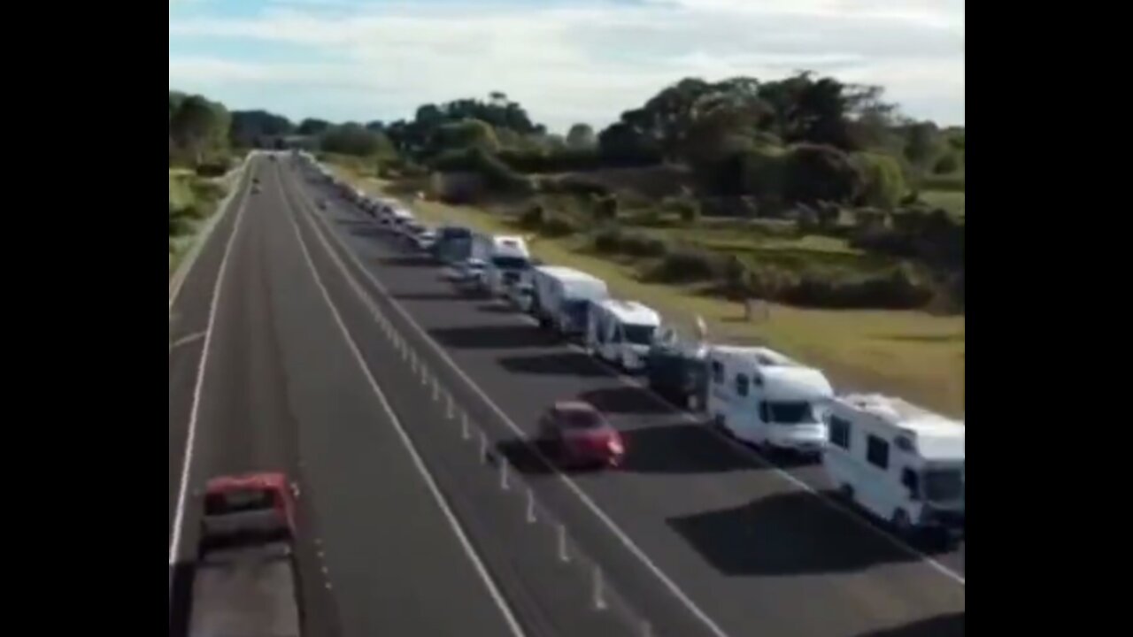
M 366 192 L 386 194 L 391 184 L 337 169 L 339 175 Z M 452 206 L 429 201 L 410 203 L 427 223 L 452 222 L 484 231 L 517 232 L 509 219 L 474 206 Z M 866 255 L 826 237 L 787 240 L 763 237 L 758 241 L 727 224 L 713 228 L 657 230 L 681 238 L 732 248 L 758 249 L 764 255 L 781 252 L 791 258 L 816 255 L 851 260 L 860 265 Z M 761 235 L 752 229 L 752 236 Z M 761 342 L 821 367 L 842 389 L 898 394 L 946 414 L 964 413 L 964 317 L 935 316 L 925 312 L 825 311 L 772 305 L 769 320 L 747 322 L 740 304 L 706 296 L 696 287 L 647 283 L 632 262 L 593 254 L 581 237 L 538 238 L 533 252 L 550 263 L 569 265 L 604 279 L 615 295 L 656 307 L 667 321 L 689 326 L 704 316 L 715 340 Z

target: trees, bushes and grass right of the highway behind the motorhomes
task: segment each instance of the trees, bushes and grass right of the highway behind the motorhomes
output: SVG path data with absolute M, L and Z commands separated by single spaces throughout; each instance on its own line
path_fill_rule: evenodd
M 963 413 L 964 129 L 905 118 L 877 87 L 685 78 L 565 135 L 503 93 L 393 122 L 255 111 L 231 130 L 292 136 L 427 221 L 528 235 L 672 321 L 704 315 L 717 339 Z M 747 299 L 769 312 L 750 318 Z

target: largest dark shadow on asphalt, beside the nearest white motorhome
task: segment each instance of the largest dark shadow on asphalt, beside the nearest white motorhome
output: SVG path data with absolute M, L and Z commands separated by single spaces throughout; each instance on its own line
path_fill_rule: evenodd
M 855 572 L 919 559 L 803 491 L 667 523 L 727 576 Z

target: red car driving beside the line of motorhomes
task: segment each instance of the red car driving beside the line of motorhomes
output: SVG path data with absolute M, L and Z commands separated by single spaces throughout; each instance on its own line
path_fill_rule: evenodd
M 565 465 L 616 467 L 625 456 L 617 430 L 588 402 L 555 402 L 539 418 L 539 442 Z

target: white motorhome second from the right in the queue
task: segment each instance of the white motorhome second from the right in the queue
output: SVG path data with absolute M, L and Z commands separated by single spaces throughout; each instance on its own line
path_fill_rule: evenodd
M 820 371 L 766 347 L 712 346 L 706 358 L 716 426 L 768 449 L 821 451 L 834 388 Z

